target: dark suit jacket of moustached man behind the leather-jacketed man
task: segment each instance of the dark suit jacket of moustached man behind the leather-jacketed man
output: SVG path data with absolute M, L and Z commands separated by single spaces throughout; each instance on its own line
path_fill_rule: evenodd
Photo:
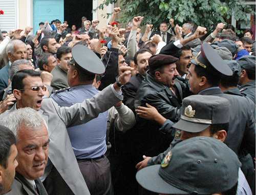
M 122 88 L 123 104 L 128 106 L 132 111 L 134 111 L 134 98 L 143 80 L 144 77 L 137 73 Z

